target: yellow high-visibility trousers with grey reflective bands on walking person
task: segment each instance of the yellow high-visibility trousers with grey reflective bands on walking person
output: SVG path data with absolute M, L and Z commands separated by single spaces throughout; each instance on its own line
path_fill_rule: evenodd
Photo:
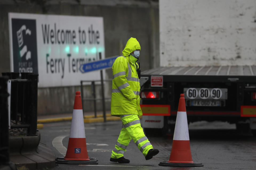
M 153 146 L 143 132 L 138 115 L 125 114 L 120 115 L 120 118 L 123 124 L 122 130 L 117 139 L 115 149 L 112 151 L 111 158 L 121 158 L 126 152 L 126 148 L 131 139 L 133 139 L 134 143 L 137 145 L 142 154 L 146 156 L 149 150 L 153 149 Z

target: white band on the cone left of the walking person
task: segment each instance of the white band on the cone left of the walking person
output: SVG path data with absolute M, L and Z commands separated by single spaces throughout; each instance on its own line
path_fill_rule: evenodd
M 85 125 L 83 122 L 82 109 L 73 109 L 69 138 L 85 138 Z

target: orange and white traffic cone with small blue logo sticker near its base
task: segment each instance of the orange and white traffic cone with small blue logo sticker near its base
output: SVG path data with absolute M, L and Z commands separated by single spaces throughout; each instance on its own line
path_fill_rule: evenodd
M 69 144 L 67 147 L 66 156 L 64 158 L 57 158 L 56 163 L 98 164 L 98 160 L 96 158 L 89 158 L 88 156 L 85 139 L 85 126 L 83 122 L 81 93 L 77 91 L 75 94 L 73 116 L 69 133 Z

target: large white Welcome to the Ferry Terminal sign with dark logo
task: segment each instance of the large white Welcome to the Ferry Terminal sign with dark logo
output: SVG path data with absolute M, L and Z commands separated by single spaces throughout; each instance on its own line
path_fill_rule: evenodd
M 105 58 L 102 17 L 9 13 L 9 37 L 11 71 L 38 73 L 38 87 L 100 79 L 79 66 Z

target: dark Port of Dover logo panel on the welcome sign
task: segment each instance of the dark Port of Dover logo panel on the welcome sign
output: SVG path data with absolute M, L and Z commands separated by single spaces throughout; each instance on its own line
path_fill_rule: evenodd
M 35 19 L 11 19 L 14 72 L 38 73 Z

